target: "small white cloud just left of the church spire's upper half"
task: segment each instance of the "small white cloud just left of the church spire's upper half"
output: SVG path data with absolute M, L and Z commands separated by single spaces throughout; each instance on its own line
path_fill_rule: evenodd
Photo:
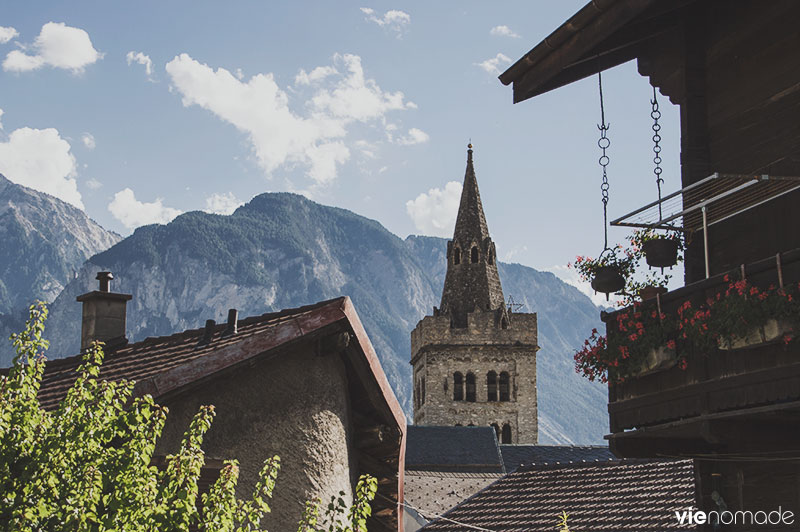
M 460 200 L 461 183 L 450 181 L 444 190 L 432 188 L 407 201 L 406 212 L 423 234 L 448 237 L 453 235 Z

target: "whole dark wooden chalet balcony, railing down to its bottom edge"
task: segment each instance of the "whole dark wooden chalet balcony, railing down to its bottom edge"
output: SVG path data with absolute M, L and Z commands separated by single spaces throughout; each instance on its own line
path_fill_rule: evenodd
M 781 281 L 787 289 L 796 288 L 800 249 L 743 269 L 747 281 L 762 289 Z M 676 313 L 687 300 L 694 307 L 702 305 L 725 290 L 725 275 L 738 280 L 741 271 L 664 294 L 662 311 Z M 609 338 L 623 334 L 614 328 L 618 312 L 623 311 L 603 315 Z M 689 349 L 684 355 L 685 370 L 675 365 L 609 385 L 607 439 L 616 454 L 656 457 L 800 448 L 800 339 L 785 344 L 781 336 L 734 349 Z

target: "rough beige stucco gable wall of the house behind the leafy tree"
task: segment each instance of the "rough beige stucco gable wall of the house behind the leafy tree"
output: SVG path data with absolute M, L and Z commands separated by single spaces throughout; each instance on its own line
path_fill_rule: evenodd
M 269 530 L 296 530 L 306 500 L 323 507 L 344 491 L 352 502 L 355 459 L 347 378 L 338 356 L 310 350 L 270 360 L 215 378 L 160 401 L 170 409 L 158 454 L 174 453 L 200 405 L 213 404 L 216 419 L 203 449 L 209 458 L 239 460 L 237 495 L 249 497 L 265 459 L 281 458 Z

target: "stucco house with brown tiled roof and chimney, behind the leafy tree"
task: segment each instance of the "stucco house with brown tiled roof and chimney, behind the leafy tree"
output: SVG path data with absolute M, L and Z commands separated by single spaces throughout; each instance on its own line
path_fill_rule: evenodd
M 281 457 L 270 530 L 296 530 L 305 501 L 343 491 L 352 501 L 361 474 L 378 479 L 370 531 L 402 530 L 406 420 L 349 298 L 238 319 L 201 329 L 125 339 L 130 295 L 111 292 L 109 272 L 83 303 L 81 345 L 106 343 L 100 378 L 136 382 L 169 408 L 156 454 L 177 451 L 201 405 L 216 407 L 203 449 L 203 480 L 222 459 L 240 464 L 249 496 L 264 460 Z M 47 363 L 40 400 L 53 408 L 75 379 L 80 356 Z

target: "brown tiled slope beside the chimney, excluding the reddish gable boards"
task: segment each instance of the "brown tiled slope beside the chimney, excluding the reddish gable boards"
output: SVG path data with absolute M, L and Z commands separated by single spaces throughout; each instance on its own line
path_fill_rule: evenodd
M 205 331 L 201 328 L 124 345 L 106 355 L 100 378 L 134 380 L 137 393 L 158 397 L 313 332 L 326 318 L 333 321 L 334 316 L 324 316 L 326 310 L 341 307 L 344 299 L 239 320 L 238 332 L 229 336 L 222 335 L 226 328 L 222 323 L 215 326 L 208 343 L 200 342 Z M 45 408 L 54 407 L 64 397 L 80 363 L 80 356 L 47 362 L 39 392 Z

